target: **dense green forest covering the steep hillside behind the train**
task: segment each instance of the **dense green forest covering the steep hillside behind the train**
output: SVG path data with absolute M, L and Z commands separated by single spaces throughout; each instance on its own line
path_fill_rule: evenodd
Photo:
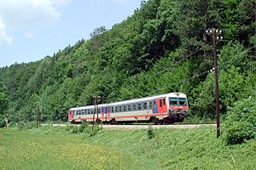
M 215 117 L 212 36 L 217 42 L 220 115 L 256 99 L 255 0 L 148 0 L 111 29 L 53 56 L 0 68 L 0 119 L 67 122 L 69 108 L 181 92 L 189 115 Z M 90 24 L 90 23 L 89 23 Z M 240 102 L 240 103 L 239 103 Z M 254 107 L 255 108 L 255 107 Z M 256 111 L 256 110 L 255 110 Z M 254 112 L 255 112 L 254 111 Z

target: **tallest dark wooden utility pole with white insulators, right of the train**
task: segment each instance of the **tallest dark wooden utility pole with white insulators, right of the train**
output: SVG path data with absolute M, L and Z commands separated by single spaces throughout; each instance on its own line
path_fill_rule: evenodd
M 218 99 L 218 59 L 217 59 L 217 45 L 216 39 L 222 39 L 223 37 L 216 37 L 216 34 L 220 35 L 222 32 L 221 30 L 218 31 L 215 28 L 207 30 L 207 34 L 212 35 L 213 40 L 213 55 L 214 55 L 214 73 L 215 73 L 215 99 L 216 99 L 216 135 L 217 138 L 219 137 L 219 99 Z

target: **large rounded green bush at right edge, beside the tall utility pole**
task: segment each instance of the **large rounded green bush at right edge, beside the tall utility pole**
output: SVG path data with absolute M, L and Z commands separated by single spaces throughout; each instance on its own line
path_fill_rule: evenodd
M 222 128 L 226 144 L 241 144 L 256 138 L 256 99 L 248 97 L 229 108 Z

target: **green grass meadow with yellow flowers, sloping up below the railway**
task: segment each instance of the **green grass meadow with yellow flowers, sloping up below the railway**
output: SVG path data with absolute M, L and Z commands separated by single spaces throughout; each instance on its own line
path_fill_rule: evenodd
M 214 127 L 101 130 L 0 129 L 0 169 L 255 169 L 256 141 L 226 146 Z M 153 133 L 153 135 L 152 135 Z M 148 137 L 151 137 L 149 139 Z

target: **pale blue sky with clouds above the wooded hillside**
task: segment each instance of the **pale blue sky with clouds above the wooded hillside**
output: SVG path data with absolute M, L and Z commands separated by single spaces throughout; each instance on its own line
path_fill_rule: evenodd
M 0 0 L 0 67 L 52 56 L 99 26 L 111 29 L 141 0 Z

